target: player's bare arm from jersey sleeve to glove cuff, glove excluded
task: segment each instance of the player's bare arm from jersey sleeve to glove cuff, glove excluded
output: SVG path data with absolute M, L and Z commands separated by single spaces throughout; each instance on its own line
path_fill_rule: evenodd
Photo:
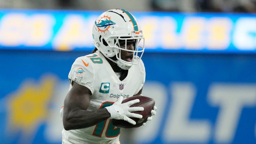
M 107 109 L 87 111 L 89 105 L 90 90 L 74 82 L 64 100 L 64 129 L 72 130 L 87 128 L 110 117 L 110 113 Z

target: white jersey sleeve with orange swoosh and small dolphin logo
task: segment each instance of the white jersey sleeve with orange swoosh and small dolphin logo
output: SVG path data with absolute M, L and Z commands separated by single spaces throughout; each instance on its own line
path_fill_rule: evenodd
M 75 83 L 87 87 L 91 93 L 94 93 L 93 82 L 95 72 L 90 59 L 86 56 L 79 57 L 73 63 L 68 78 Z

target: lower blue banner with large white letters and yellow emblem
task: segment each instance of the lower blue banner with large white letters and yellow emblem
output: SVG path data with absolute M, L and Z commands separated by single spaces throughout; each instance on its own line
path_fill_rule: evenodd
M 1 50 L 0 143 L 60 144 L 74 60 L 89 51 Z M 256 143 L 256 57 L 145 53 L 143 94 L 157 115 L 122 144 Z

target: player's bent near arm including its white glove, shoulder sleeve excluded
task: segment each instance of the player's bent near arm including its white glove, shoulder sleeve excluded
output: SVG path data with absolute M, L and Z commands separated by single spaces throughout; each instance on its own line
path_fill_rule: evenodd
M 130 107 L 138 103 L 139 99 L 126 103 L 121 103 L 123 97 L 111 106 L 96 111 L 87 111 L 90 105 L 90 90 L 77 83 L 73 83 L 68 92 L 63 107 L 63 126 L 65 130 L 82 129 L 96 125 L 107 118 L 122 119 L 131 124 L 136 124 L 129 117 L 142 118 L 142 115 L 131 113 L 133 111 L 143 111 L 143 107 Z

